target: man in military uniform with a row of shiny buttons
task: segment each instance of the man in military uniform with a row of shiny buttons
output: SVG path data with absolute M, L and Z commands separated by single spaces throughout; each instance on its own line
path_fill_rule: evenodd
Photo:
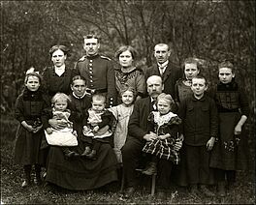
M 107 96 L 107 106 L 116 103 L 114 70 L 111 59 L 99 55 L 100 42 L 95 35 L 84 37 L 82 56 L 73 70 L 73 76 L 81 75 L 86 79 L 88 92 L 102 93 Z

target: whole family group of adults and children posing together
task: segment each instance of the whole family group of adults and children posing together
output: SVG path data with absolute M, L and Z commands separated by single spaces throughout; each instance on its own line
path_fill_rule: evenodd
M 131 45 L 117 48 L 117 67 L 99 53 L 96 35 L 84 36 L 83 48 L 68 68 L 69 48 L 53 45 L 52 65 L 25 74 L 15 106 L 20 186 L 94 190 L 119 180 L 132 197 L 141 168 L 156 175 L 160 200 L 171 182 L 194 195 L 225 197 L 236 171 L 247 167 L 242 128 L 250 110 L 233 63 L 219 63 L 219 82 L 209 87 L 196 58 L 186 58 L 182 69 L 169 61 L 169 44 L 154 45 L 156 62 L 146 71 L 135 66 Z

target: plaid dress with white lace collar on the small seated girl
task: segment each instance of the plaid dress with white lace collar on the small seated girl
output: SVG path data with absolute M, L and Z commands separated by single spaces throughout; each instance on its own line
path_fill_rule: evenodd
M 147 141 L 143 151 L 145 153 L 155 155 L 159 159 L 173 161 L 178 164 L 180 161 L 179 153 L 175 151 L 174 146 L 178 138 L 178 125 L 181 123 L 180 118 L 169 112 L 166 115 L 160 115 L 158 111 L 152 111 L 148 116 L 149 127 L 153 128 L 153 132 L 157 135 L 170 133 L 171 137 L 167 139 L 156 138 L 152 141 Z

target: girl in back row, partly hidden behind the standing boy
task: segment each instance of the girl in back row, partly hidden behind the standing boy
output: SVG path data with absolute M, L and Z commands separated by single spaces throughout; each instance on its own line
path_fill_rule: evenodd
M 184 77 L 176 81 L 175 102 L 177 105 L 192 94 L 192 78 L 200 73 L 198 61 L 195 58 L 186 58 L 182 65 Z

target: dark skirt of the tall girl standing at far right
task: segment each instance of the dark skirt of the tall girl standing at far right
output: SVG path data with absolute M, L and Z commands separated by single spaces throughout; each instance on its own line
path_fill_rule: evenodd
M 210 157 L 210 167 L 224 170 L 244 170 L 248 161 L 248 138 L 242 130 L 235 135 L 239 112 L 219 113 L 219 136 Z

